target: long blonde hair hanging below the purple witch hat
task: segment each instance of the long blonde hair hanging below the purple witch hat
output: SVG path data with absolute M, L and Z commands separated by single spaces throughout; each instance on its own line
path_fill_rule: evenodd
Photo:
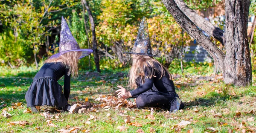
M 61 62 L 62 65 L 69 69 L 67 75 L 78 78 L 78 62 L 81 54 L 79 51 L 70 51 L 60 55 L 58 58 L 47 59 L 44 63 Z

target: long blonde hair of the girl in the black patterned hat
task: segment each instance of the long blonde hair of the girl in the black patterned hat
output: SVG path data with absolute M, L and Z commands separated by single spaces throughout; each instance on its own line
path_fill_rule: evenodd
M 160 69 L 157 68 L 158 66 L 156 65 L 159 65 Z M 146 77 L 145 77 L 145 69 L 147 69 L 147 72 L 148 72 L 148 75 Z M 138 87 L 137 86 L 138 78 L 141 78 L 142 83 L 144 84 L 146 78 L 156 77 L 156 73 L 161 74 L 160 78 L 168 74 L 170 77 L 169 79 L 170 80 L 172 79 L 170 72 L 153 57 L 149 57 L 145 55 L 134 55 L 132 66 L 129 71 L 128 87 L 136 89 Z

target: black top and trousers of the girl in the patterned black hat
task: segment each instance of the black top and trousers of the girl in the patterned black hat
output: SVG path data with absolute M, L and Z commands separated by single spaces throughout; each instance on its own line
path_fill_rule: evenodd
M 154 67 L 160 71 L 159 64 L 154 63 Z M 150 68 L 149 71 L 152 71 Z M 138 108 L 143 107 L 160 107 L 167 110 L 174 110 L 175 106 L 171 106 L 175 103 L 175 97 L 179 97 L 175 92 L 175 86 L 169 75 L 166 72 L 161 78 L 161 73 L 155 71 L 155 77 L 146 78 L 145 83 L 142 84 L 142 80 L 137 79 L 137 89 L 130 91 L 132 98 L 136 99 L 136 105 Z M 145 69 L 145 77 L 148 75 L 148 70 Z M 184 104 L 181 103 L 180 109 L 184 108 Z

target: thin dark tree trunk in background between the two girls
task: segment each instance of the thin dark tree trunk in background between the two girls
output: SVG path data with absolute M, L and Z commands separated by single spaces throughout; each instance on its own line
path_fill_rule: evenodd
M 97 40 L 96 40 L 96 33 L 95 33 L 93 15 L 90 12 L 90 8 L 89 8 L 86 0 L 83 0 L 83 3 L 84 3 L 84 6 L 85 6 L 85 9 L 88 12 L 90 23 L 91 23 L 91 29 L 92 29 L 92 33 L 93 33 L 93 50 L 94 50 L 93 51 L 93 57 L 94 57 L 94 62 L 96 64 L 97 72 L 100 72 L 100 69 L 99 69 L 99 55 L 98 55 L 98 48 L 97 48 L 98 46 L 97 46 Z

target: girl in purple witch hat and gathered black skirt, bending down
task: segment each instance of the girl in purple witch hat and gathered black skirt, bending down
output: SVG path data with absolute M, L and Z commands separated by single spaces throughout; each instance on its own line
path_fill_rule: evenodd
M 64 17 L 61 17 L 61 35 L 59 53 L 47 59 L 26 92 L 27 107 L 32 112 L 39 112 L 39 106 L 59 107 L 64 111 L 70 109 L 67 103 L 70 95 L 70 77 L 78 76 L 79 59 L 90 55 L 93 49 L 80 49 Z M 64 75 L 64 91 L 58 80 Z

